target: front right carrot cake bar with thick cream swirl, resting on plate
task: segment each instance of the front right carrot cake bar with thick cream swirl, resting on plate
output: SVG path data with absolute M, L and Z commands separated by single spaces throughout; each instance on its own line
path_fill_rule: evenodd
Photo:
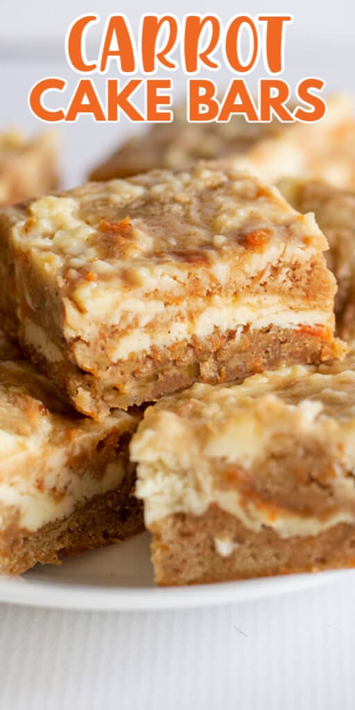
M 355 372 L 323 367 L 146 410 L 131 459 L 158 584 L 355 565 Z

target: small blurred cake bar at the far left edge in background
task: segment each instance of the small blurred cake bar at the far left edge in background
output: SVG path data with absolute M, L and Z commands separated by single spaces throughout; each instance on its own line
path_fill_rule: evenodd
M 0 204 L 13 204 L 58 187 L 57 140 L 43 133 L 28 140 L 0 133 Z

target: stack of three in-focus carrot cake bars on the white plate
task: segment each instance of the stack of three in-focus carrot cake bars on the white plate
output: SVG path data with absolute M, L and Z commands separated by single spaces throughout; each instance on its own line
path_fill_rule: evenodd
M 342 236 L 280 187 L 192 161 L 1 210 L 3 572 L 133 535 L 142 501 L 159 584 L 355 562 Z

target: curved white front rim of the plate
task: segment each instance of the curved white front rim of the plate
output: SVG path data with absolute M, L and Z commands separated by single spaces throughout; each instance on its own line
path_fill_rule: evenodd
M 72 611 L 168 611 L 223 606 L 314 589 L 342 572 L 288 574 L 178 587 L 116 587 L 1 577 L 0 603 Z

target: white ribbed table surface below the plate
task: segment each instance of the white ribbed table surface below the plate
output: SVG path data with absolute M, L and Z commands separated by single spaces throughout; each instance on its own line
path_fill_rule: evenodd
M 236 606 L 0 606 L 1 710 L 353 710 L 355 572 Z

